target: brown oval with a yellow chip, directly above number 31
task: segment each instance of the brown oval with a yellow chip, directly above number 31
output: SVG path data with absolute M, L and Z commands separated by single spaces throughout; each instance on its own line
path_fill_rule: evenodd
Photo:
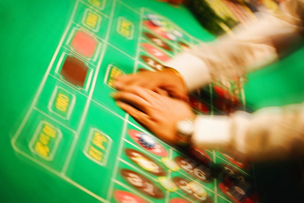
M 156 176 L 166 176 L 165 170 L 147 155 L 129 148 L 125 149 L 125 153 L 133 163 L 149 173 Z

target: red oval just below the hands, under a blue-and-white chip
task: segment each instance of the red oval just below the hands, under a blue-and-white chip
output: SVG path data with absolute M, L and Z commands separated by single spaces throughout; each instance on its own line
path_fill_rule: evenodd
M 142 134 L 142 132 L 140 132 L 138 130 L 129 130 L 128 133 L 129 133 L 130 137 L 134 140 L 134 142 L 136 142 L 143 149 L 145 149 L 151 153 L 154 153 L 155 155 L 157 155 L 159 157 L 168 157 L 169 156 L 168 151 L 165 150 L 165 148 L 163 146 L 161 146 L 161 144 L 158 142 L 156 142 L 156 145 L 152 149 L 148 149 L 148 148 L 144 147 L 142 144 L 140 144 L 139 138 L 140 138 L 140 135 Z

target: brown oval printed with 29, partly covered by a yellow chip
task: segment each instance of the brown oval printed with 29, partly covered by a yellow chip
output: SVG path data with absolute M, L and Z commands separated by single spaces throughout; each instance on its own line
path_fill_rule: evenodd
M 199 194 L 196 190 L 192 187 L 192 181 L 189 181 L 188 179 L 185 179 L 183 177 L 173 177 L 172 178 L 174 184 L 185 194 L 187 194 L 189 197 L 191 197 L 194 201 L 199 202 L 206 202 L 206 203 L 212 203 L 212 198 L 209 196 L 208 192 L 204 192 L 204 194 Z M 195 183 L 196 185 L 199 185 Z M 203 189 L 205 190 L 205 189 Z

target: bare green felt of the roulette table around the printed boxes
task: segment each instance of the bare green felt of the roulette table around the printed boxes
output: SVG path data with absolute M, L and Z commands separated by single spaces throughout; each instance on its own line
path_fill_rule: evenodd
M 119 67 L 126 74 L 136 71 L 138 66 L 134 65 L 134 61 L 139 61 L 139 54 L 143 52 L 139 52 L 137 47 L 142 29 L 140 18 L 149 12 L 170 19 L 168 22 L 172 25 L 178 25 L 182 32 L 188 33 L 185 34 L 185 40 L 189 44 L 215 39 L 215 36 L 200 27 L 191 13 L 182 6 L 174 7 L 153 0 L 102 2 L 104 7 L 100 10 L 85 0 L 0 2 L 2 202 L 115 202 L 113 191 L 132 192 L 134 188 L 123 186 L 128 183 L 117 174 L 120 168 L 134 169 L 134 166 L 124 157 L 124 153 L 121 154 L 121 158 L 127 160 L 126 163 L 117 161 L 116 156 L 125 148 L 138 150 L 127 132 L 130 129 L 143 129 L 109 97 L 109 93 L 114 91 L 104 83 L 109 64 Z M 78 90 L 64 83 L 54 72 L 56 63 L 60 63 L 60 56 L 63 56 L 60 54 L 74 53 L 66 43 L 65 34 L 72 33 L 72 27 L 80 28 L 79 23 L 85 9 L 91 9 L 102 17 L 100 29 L 95 33 L 97 41 L 101 44 L 100 52 L 96 55 L 95 61 L 87 61 L 89 70 L 92 71 L 88 91 Z M 71 16 L 74 16 L 72 20 Z M 130 20 L 134 25 L 134 39 L 131 41 L 116 32 L 120 16 Z M 60 41 L 61 39 L 63 41 Z M 258 109 L 303 101 L 303 54 L 304 49 L 300 49 L 267 69 L 249 74 L 249 82 L 244 87 L 247 104 L 253 109 Z M 52 65 L 49 66 L 50 64 Z M 278 68 L 279 71 L 274 70 Z M 76 98 L 74 111 L 68 121 L 57 118 L 47 108 L 55 86 L 64 87 Z M 52 123 L 54 118 L 56 122 L 52 125 L 60 129 L 63 138 L 54 160 L 49 161 L 31 151 L 29 143 L 40 121 Z M 20 127 L 22 123 L 23 127 Z M 104 166 L 96 164 L 96 160 L 88 158 L 83 152 L 89 140 L 88 135 L 94 127 L 112 139 L 108 161 Z M 127 141 L 121 141 L 122 136 Z M 162 145 L 171 153 L 171 158 L 180 155 L 174 147 L 165 143 Z M 71 151 L 72 148 L 74 150 Z M 153 157 L 153 154 L 147 154 Z M 215 151 L 207 154 L 213 162 L 228 163 L 225 157 Z M 233 167 L 241 170 L 237 166 Z M 183 173 L 184 171 L 181 174 Z M 241 173 L 246 174 L 247 171 L 241 170 Z M 172 174 L 180 175 L 177 172 Z M 111 178 L 122 184 L 117 184 Z M 231 201 L 225 194 L 216 192 L 219 190 L 216 189 L 216 180 L 209 184 L 201 184 L 210 192 L 212 201 Z M 111 187 L 114 188 L 113 191 L 109 190 Z M 180 190 L 178 192 L 183 194 Z M 186 196 L 179 194 L 169 192 L 166 198 Z M 164 199 L 157 200 L 144 194 L 139 195 L 148 201 L 164 202 Z

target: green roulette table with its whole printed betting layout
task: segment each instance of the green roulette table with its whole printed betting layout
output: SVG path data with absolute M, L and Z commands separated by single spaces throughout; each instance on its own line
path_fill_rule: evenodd
M 193 148 L 189 156 L 110 97 L 119 75 L 161 70 L 189 46 L 216 38 L 184 6 L 152 0 L 1 4 L 4 202 L 257 201 L 251 163 L 210 149 Z M 292 70 L 302 65 L 299 60 Z M 284 89 L 284 69 L 271 71 L 248 75 L 246 84 L 247 78 L 216 81 L 190 96 L 192 108 L 210 117 L 258 109 L 282 97 L 274 93 L 280 85 L 293 101 L 303 99 L 294 97 L 303 86 Z M 278 86 L 269 87 L 273 82 Z M 153 147 L 141 142 L 144 136 Z

